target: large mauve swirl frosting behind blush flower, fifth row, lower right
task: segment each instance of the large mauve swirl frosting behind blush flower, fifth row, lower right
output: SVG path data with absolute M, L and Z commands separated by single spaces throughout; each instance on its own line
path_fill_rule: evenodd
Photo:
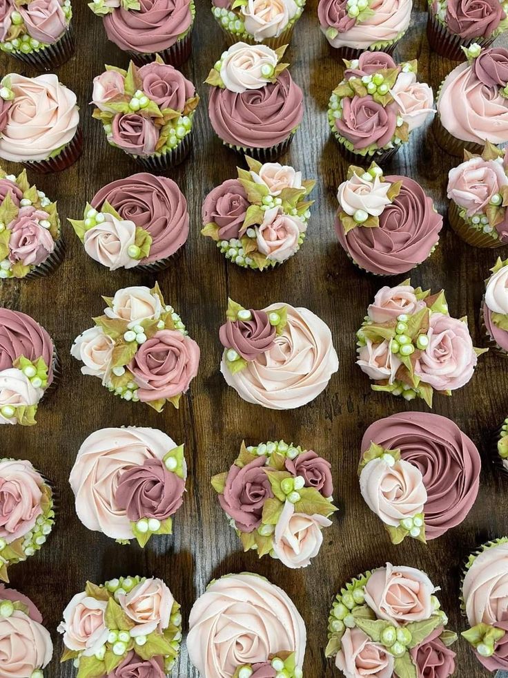
M 481 460 L 476 446 L 456 424 L 431 413 L 395 414 L 369 426 L 362 452 L 371 442 L 400 449 L 402 459 L 420 469 L 427 489 L 427 540 L 465 520 L 478 495 Z

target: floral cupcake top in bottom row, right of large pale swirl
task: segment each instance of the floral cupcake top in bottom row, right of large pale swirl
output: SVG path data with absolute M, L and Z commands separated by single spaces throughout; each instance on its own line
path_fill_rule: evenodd
M 326 657 L 346 678 L 449 678 L 457 634 L 434 595 L 439 587 L 416 567 L 387 563 L 346 583 L 328 619 Z M 367 674 L 365 674 L 367 675 Z

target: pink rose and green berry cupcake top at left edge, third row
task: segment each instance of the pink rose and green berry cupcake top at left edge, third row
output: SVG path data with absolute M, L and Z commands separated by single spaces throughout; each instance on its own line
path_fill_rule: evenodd
M 57 203 L 0 167 L 0 278 L 24 278 L 44 263 L 60 237 Z

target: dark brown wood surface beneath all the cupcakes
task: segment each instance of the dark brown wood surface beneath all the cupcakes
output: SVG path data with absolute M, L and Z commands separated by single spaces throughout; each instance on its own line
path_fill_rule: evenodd
M 106 144 L 88 106 L 92 77 L 101 73 L 105 62 L 126 66 L 127 59 L 106 41 L 101 21 L 86 8 L 86 3 L 77 0 L 74 4 L 77 54 L 59 70 L 59 75 L 77 92 L 86 146 L 81 159 L 70 169 L 37 181 L 40 189 L 58 200 L 59 214 L 64 219 L 79 218 L 86 200 L 106 182 L 138 171 L 128 156 Z M 442 77 L 456 64 L 429 55 L 425 23 L 422 4 L 414 10 L 412 26 L 395 56 L 418 58 L 420 79 L 431 83 L 436 91 Z M 421 567 L 442 587 L 440 596 L 451 628 L 460 631 L 465 628 L 458 603 L 460 565 L 476 545 L 508 532 L 508 480 L 494 471 L 489 454 L 491 431 L 508 414 L 508 363 L 495 355 L 480 358 L 470 384 L 452 398 L 435 399 L 434 411 L 455 421 L 478 444 L 482 454 L 480 494 L 467 520 L 427 547 L 411 539 L 394 547 L 380 520 L 360 496 L 356 469 L 364 430 L 380 417 L 425 406 L 371 392 L 369 379 L 354 364 L 355 330 L 367 304 L 385 281 L 353 267 L 333 230 L 335 194 L 344 178 L 346 162 L 329 137 L 326 104 L 340 79 L 341 68 L 329 56 L 318 28 L 316 1 L 308 4 L 297 24 L 289 52 L 293 77 L 304 89 L 306 111 L 291 152 L 284 158 L 301 169 L 304 177 L 317 178 L 313 195 L 316 203 L 302 251 L 271 272 L 246 272 L 227 263 L 213 243 L 199 235 L 204 196 L 219 182 L 235 176 L 238 162 L 235 153 L 215 138 L 208 122 L 208 86 L 202 83 L 224 49 L 208 0 L 197 3 L 193 40 L 193 56 L 183 70 L 202 95 L 195 119 L 194 150 L 181 167 L 170 173 L 189 203 L 190 237 L 175 265 L 158 276 L 166 301 L 182 314 L 190 335 L 202 349 L 199 375 L 189 394 L 182 398 L 179 411 L 166 406 L 164 413 L 157 415 L 147 406 L 113 397 L 99 379 L 81 375 L 78 362 L 69 354 L 72 340 L 90 326 L 92 316 L 101 312 L 101 294 L 113 295 L 126 285 L 152 285 L 155 276 L 133 270 L 108 272 L 86 256 L 70 226 L 65 225 L 67 253 L 56 272 L 35 281 L 3 281 L 0 287 L 1 305 L 32 315 L 48 329 L 63 365 L 57 390 L 39 408 L 37 426 L 2 426 L 0 432 L 3 455 L 32 460 L 59 489 L 58 520 L 48 543 L 37 556 L 10 570 L 12 585 L 34 599 L 52 632 L 55 659 L 46 670 L 48 677 L 70 678 L 75 673 L 72 662 L 59 664 L 62 643 L 56 628 L 66 603 L 83 590 L 87 578 L 101 583 L 121 574 L 161 576 L 182 603 L 186 630 L 191 605 L 208 581 L 242 570 L 263 574 L 284 587 L 304 616 L 309 636 L 306 677 L 339 675 L 324 659 L 323 648 L 328 611 L 342 583 L 387 560 Z M 1 59 L 2 73 L 17 70 L 35 75 L 6 55 Z M 427 130 L 413 135 L 389 170 L 420 181 L 444 214 L 445 182 L 453 162 L 436 147 Z M 498 252 L 508 254 L 506 248 L 495 253 L 469 247 L 445 224 L 436 253 L 411 276 L 414 283 L 433 290 L 446 289 L 451 313 L 456 317 L 468 314 L 477 345 L 481 345 L 478 309 L 483 280 Z M 403 277 L 388 280 L 395 284 Z M 226 386 L 219 373 L 221 347 L 217 330 L 228 295 L 253 308 L 273 301 L 305 305 L 329 324 L 340 370 L 320 397 L 297 411 L 276 412 L 243 402 Z M 175 517 L 175 534 L 153 538 L 144 550 L 137 545 L 117 545 L 81 525 L 68 484 L 70 469 L 85 437 L 96 429 L 124 424 L 163 429 L 186 445 L 188 493 Z M 324 533 L 319 556 L 307 569 L 290 570 L 268 556 L 258 561 L 253 552 L 243 554 L 228 527 L 209 479 L 229 467 L 242 438 L 247 444 L 284 438 L 315 449 L 333 464 L 334 495 L 341 510 L 333 519 L 333 527 Z M 460 678 L 489 675 L 465 641 L 460 641 L 456 649 Z M 188 662 L 185 644 L 173 675 L 197 675 Z

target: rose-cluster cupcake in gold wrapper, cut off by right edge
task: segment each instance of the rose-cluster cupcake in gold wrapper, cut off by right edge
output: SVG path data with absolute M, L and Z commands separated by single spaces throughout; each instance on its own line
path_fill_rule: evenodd
M 464 162 L 448 174 L 448 218 L 469 245 L 508 243 L 508 169 L 505 153 L 485 142 L 481 156 L 464 151 Z

